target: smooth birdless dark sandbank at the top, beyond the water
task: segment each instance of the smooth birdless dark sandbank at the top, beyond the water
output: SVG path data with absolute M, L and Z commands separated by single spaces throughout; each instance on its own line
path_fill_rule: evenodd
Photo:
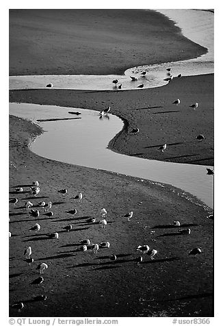
M 10 10 L 10 75 L 52 75 L 54 73 L 109 75 L 120 72 L 122 74 L 131 66 L 155 64 L 163 60 L 164 62 L 187 60 L 206 52 L 203 47 L 179 34 L 179 28 L 174 26 L 172 21 L 154 10 L 148 12 L 144 10 L 64 10 L 62 12 L 66 17 L 66 22 L 60 10 Z M 86 24 L 84 26 L 83 21 Z M 132 29 L 133 21 L 134 29 Z M 78 37 L 75 40 L 71 34 L 71 25 L 77 30 L 77 35 L 78 33 L 83 35 L 83 40 L 79 40 Z M 90 36 L 86 34 L 88 29 L 92 31 Z M 51 33 L 53 32 L 55 36 L 52 39 Z M 20 33 L 19 41 L 16 39 L 18 33 Z M 43 40 L 39 48 L 40 33 L 42 33 Z M 105 36 L 109 36 L 111 41 Z M 157 43 L 157 38 L 160 38 L 161 45 Z M 29 40 L 32 40 L 30 45 Z M 27 47 L 27 42 L 29 47 Z M 47 47 L 47 42 L 53 42 L 53 51 Z M 101 42 L 103 49 L 101 49 Z M 157 49 L 154 49 L 154 44 Z M 24 51 L 23 47 L 29 51 Z M 68 55 L 62 52 L 61 47 L 66 49 Z M 160 47 L 161 51 L 159 51 Z M 163 47 L 166 49 L 165 53 L 163 53 Z M 73 49 L 76 53 L 75 58 L 70 56 Z M 181 49 L 184 51 L 182 52 Z M 91 53 L 89 58 L 86 51 Z M 140 60 L 135 60 L 135 58 L 140 58 Z M 38 62 L 41 62 L 41 66 Z

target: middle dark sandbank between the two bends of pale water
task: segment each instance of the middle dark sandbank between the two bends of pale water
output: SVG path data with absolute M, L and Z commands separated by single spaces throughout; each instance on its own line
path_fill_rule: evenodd
M 174 97 L 182 102 L 177 109 L 172 104 Z M 193 101 L 199 102 L 198 110 L 188 109 Z M 114 151 L 126 155 L 138 153 L 140 158 L 153 160 L 213 166 L 213 75 L 182 77 L 166 86 L 140 91 L 15 90 L 10 91 L 10 102 L 97 111 L 111 106 L 116 116 L 129 121 L 129 128 L 140 127 L 134 139 L 125 130 L 119 134 Z M 204 142 L 196 141 L 198 134 L 205 134 Z M 183 146 L 171 145 L 164 155 L 153 149 L 154 145 L 165 142 Z

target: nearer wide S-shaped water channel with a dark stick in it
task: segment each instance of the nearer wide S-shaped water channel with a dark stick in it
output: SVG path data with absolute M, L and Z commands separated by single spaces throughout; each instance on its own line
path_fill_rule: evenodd
M 207 175 L 206 166 L 146 160 L 107 149 L 123 127 L 122 120 L 113 114 L 100 119 L 99 112 L 93 110 L 27 103 L 10 103 L 10 114 L 38 123 L 46 131 L 31 144 L 31 151 L 44 158 L 171 184 L 213 208 L 213 176 Z M 51 118 L 72 120 L 36 122 Z M 186 193 L 184 196 L 193 200 Z

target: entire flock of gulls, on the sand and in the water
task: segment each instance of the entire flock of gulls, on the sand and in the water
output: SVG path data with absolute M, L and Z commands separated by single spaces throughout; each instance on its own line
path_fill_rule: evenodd
M 166 69 L 168 71 L 167 73 L 167 77 L 163 80 L 170 82 L 173 78 L 173 76 L 171 75 L 170 71 L 171 68 L 167 68 Z M 143 71 L 140 77 L 145 77 L 146 76 L 146 71 Z M 179 74 L 177 77 L 181 77 L 181 74 Z M 131 80 L 133 82 L 137 82 L 138 78 L 137 77 L 133 77 L 130 76 Z M 122 88 L 122 84 L 118 85 L 118 79 L 114 79 L 112 81 L 113 84 L 115 84 L 115 87 L 118 89 Z M 46 87 L 52 88 L 53 84 L 47 84 Z M 144 88 L 144 84 L 140 84 L 137 86 L 137 88 Z M 181 100 L 180 99 L 176 99 L 172 102 L 172 104 L 174 105 L 180 105 Z M 198 103 L 193 103 L 192 105 L 189 105 L 190 108 L 193 108 L 194 110 L 196 108 L 198 108 Z M 108 107 L 107 109 L 104 109 L 100 112 L 99 116 L 100 118 L 103 118 L 104 116 L 107 116 L 107 114 L 110 112 L 111 108 Z M 130 132 L 131 134 L 138 134 L 140 131 L 140 129 L 138 128 L 133 128 Z M 204 140 L 205 136 L 200 134 L 196 137 L 197 140 Z M 167 144 L 161 145 L 158 149 L 159 151 L 161 151 L 162 153 L 166 150 L 167 148 Z M 211 170 L 211 168 L 207 168 L 207 174 L 208 175 L 213 175 L 213 170 Z M 57 190 L 58 193 L 61 193 L 62 195 L 66 195 L 68 193 L 67 189 L 60 189 Z M 24 189 L 23 187 L 18 187 L 16 188 L 16 192 L 18 193 L 23 193 Z M 37 197 L 37 195 L 40 192 L 40 184 L 38 181 L 34 181 L 33 182 L 33 186 L 30 187 L 29 189 L 29 194 L 34 196 L 34 199 Z M 73 199 L 75 201 L 79 201 L 79 203 L 81 203 L 81 199 L 83 198 L 82 193 L 78 193 L 77 195 L 73 196 Z M 10 204 L 16 205 L 16 203 L 18 203 L 18 198 L 14 197 L 10 199 Z M 38 206 L 37 210 L 34 210 L 34 207 Z M 24 210 L 27 210 L 27 213 L 30 216 L 36 217 L 38 218 L 40 216 L 40 214 L 42 214 L 42 212 L 44 212 L 45 215 L 51 217 L 53 216 L 53 211 L 51 210 L 53 206 L 52 201 L 49 201 L 48 203 L 46 203 L 45 201 L 40 201 L 38 203 L 32 203 L 31 201 L 26 201 L 23 205 Z M 73 209 L 73 210 L 69 210 L 67 212 L 68 214 L 72 214 L 73 216 L 75 216 L 77 214 L 77 210 Z M 101 229 L 105 229 L 107 227 L 107 220 L 106 220 L 106 216 L 107 216 L 107 210 L 105 208 L 101 208 L 101 219 L 100 221 L 96 222 L 96 218 L 88 218 L 87 222 L 88 223 L 95 223 L 95 224 L 99 224 Z M 133 217 L 133 211 L 124 214 L 122 216 L 123 218 L 126 219 L 126 221 L 131 222 L 131 218 Z M 207 218 L 212 219 L 213 220 L 213 215 L 209 215 L 207 216 Z M 172 223 L 172 227 L 181 227 L 181 223 L 180 221 L 173 221 Z M 68 224 L 65 225 L 64 227 L 62 227 L 62 229 L 66 232 L 69 232 L 70 230 L 72 230 L 73 225 L 72 224 Z M 38 233 L 38 231 L 40 231 L 41 229 L 41 225 L 39 223 L 35 223 L 32 227 L 30 227 L 29 229 L 27 229 L 27 231 L 29 232 L 35 232 Z M 191 229 L 187 228 L 187 229 L 179 229 L 178 230 L 179 234 L 191 234 Z M 13 236 L 13 234 L 9 231 L 9 236 Z M 51 238 L 51 239 L 58 239 L 59 238 L 59 232 L 54 232 L 52 231 L 49 234 L 46 234 L 47 238 Z M 86 238 L 83 240 L 79 241 L 79 251 L 82 251 L 83 253 L 85 253 L 86 251 L 91 251 L 92 253 L 96 254 L 98 253 L 98 251 L 102 248 L 107 248 L 109 249 L 109 247 L 111 246 L 109 241 L 105 241 L 105 242 L 99 242 L 99 243 L 92 243 L 90 239 Z M 139 256 L 137 256 L 137 258 L 134 258 L 134 261 L 136 262 L 137 266 L 141 266 L 143 260 L 144 260 L 144 255 L 146 255 L 146 257 L 148 257 L 150 260 L 154 260 L 155 256 L 157 255 L 158 251 L 157 249 L 154 248 L 150 248 L 148 246 L 148 244 L 140 244 L 137 246 L 137 248 L 135 248 L 135 252 L 136 253 L 140 253 Z M 202 250 L 199 247 L 196 247 L 192 250 L 189 251 L 189 255 L 199 255 L 200 253 L 202 253 Z M 25 248 L 25 251 L 23 253 L 24 257 L 25 257 L 25 262 L 27 262 L 27 264 L 29 264 L 29 266 L 31 266 L 31 264 L 34 264 L 34 258 L 31 257 L 32 255 L 32 248 L 31 246 Z M 111 262 L 115 262 L 116 260 L 118 260 L 118 255 L 116 254 L 112 254 L 109 256 L 109 260 L 111 260 Z M 42 262 L 40 264 L 38 264 L 36 266 L 36 271 L 38 271 L 40 273 L 40 276 L 37 277 L 36 279 L 34 279 L 33 281 L 31 281 L 31 285 L 38 285 L 40 286 L 40 284 L 42 284 L 44 282 L 44 277 L 42 276 L 44 274 L 45 271 L 47 271 L 47 269 L 49 268 L 49 266 L 45 263 Z M 35 297 L 34 300 L 36 301 L 44 301 L 47 299 L 46 295 L 38 295 Z M 18 312 L 21 312 L 21 310 L 24 308 L 24 303 L 23 302 L 16 302 L 14 304 L 12 304 L 12 308 L 15 308 L 16 310 L 18 310 Z

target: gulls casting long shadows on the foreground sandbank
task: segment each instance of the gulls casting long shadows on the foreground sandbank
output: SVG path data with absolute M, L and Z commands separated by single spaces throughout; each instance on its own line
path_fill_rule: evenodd
M 22 187 L 18 187 L 18 188 L 16 188 L 16 192 L 23 193 L 24 189 Z M 27 192 L 27 191 L 25 191 L 25 192 Z M 38 198 L 36 198 L 36 196 L 38 195 L 39 192 L 40 192 L 40 184 L 38 181 L 34 181 L 33 186 L 30 187 L 29 194 L 34 196 L 33 199 L 38 199 Z M 60 189 L 60 190 L 57 190 L 57 192 L 61 193 L 62 195 L 68 194 L 67 189 Z M 79 192 L 79 193 L 77 193 L 77 195 L 74 195 L 72 198 L 74 201 L 79 201 L 79 203 L 81 203 L 81 199 L 83 199 L 83 195 L 81 192 Z M 15 208 L 16 204 L 20 200 L 18 200 L 18 198 L 16 198 L 16 197 L 11 198 L 10 204 L 12 204 L 13 205 L 12 207 Z M 33 209 L 34 206 L 35 207 L 37 206 L 38 210 L 34 210 Z M 42 212 L 44 212 L 44 215 L 53 216 L 53 212 L 51 210 L 53 208 L 52 201 L 49 201 L 48 203 L 46 203 L 45 201 L 40 201 L 38 203 L 32 203 L 31 201 L 26 201 L 24 203 L 24 205 L 22 205 L 20 208 L 23 208 L 25 211 L 27 211 L 27 214 L 29 214 L 30 216 L 34 216 L 34 217 L 39 217 L 40 214 L 43 214 Z M 77 214 L 77 209 L 66 211 L 66 213 L 75 216 Z M 101 219 L 98 222 L 96 222 L 96 218 L 88 218 L 87 222 L 99 224 L 102 229 L 105 229 L 105 227 L 107 226 L 107 220 L 106 220 L 107 210 L 105 208 L 101 208 L 100 214 L 101 214 Z M 121 217 L 124 218 L 125 221 L 131 222 L 131 218 L 133 218 L 133 211 L 131 211 L 127 214 L 124 214 Z M 207 216 L 207 218 L 213 219 L 213 215 L 209 215 L 209 216 Z M 173 221 L 173 223 L 172 223 L 172 225 L 170 225 L 170 227 L 181 227 L 181 223 L 179 221 Z M 62 227 L 62 229 L 64 229 L 67 232 L 69 232 L 72 228 L 73 228 L 72 224 L 68 224 L 68 225 Z M 38 231 L 40 231 L 40 229 L 41 229 L 41 225 L 39 223 L 35 223 L 32 227 L 27 229 L 27 231 L 38 234 Z M 179 232 L 179 234 L 191 234 L 191 229 L 179 229 L 178 232 Z M 13 236 L 13 234 L 11 234 L 11 232 L 9 232 L 9 236 L 11 238 L 11 236 Z M 45 234 L 45 236 L 47 238 L 51 238 L 51 239 L 58 239 L 59 231 L 57 231 L 57 232 L 52 231 L 49 234 Z M 77 251 L 82 251 L 83 253 L 90 251 L 94 254 L 98 253 L 98 251 L 100 249 L 103 249 L 103 248 L 109 249 L 111 246 L 110 242 L 107 240 L 104 242 L 92 243 L 92 241 L 88 238 L 79 240 L 79 244 L 80 244 L 79 249 L 77 249 Z M 139 244 L 135 248 L 135 253 L 137 253 L 137 252 L 140 253 L 140 255 L 137 256 L 136 258 L 134 258 L 133 261 L 135 261 L 137 266 L 141 266 L 142 262 L 144 261 L 144 257 L 148 257 L 150 260 L 154 260 L 155 256 L 158 253 L 158 250 L 155 248 L 150 248 L 148 246 L 148 244 L 142 244 L 142 245 Z M 196 248 L 190 250 L 188 254 L 189 255 L 198 255 L 200 253 L 202 253 L 202 250 L 200 248 L 196 247 Z M 23 255 L 24 255 L 25 262 L 27 264 L 29 264 L 29 266 L 31 266 L 31 264 L 34 264 L 34 258 L 31 257 L 31 255 L 32 255 L 31 246 L 25 248 Z M 110 255 L 108 258 L 111 262 L 116 262 L 116 260 L 118 260 L 118 255 L 115 253 L 112 253 L 112 255 Z M 37 277 L 36 279 L 34 279 L 33 281 L 31 281 L 30 284 L 40 286 L 44 282 L 43 274 L 45 273 L 45 271 L 47 271 L 48 268 L 49 268 L 49 266 L 45 262 L 37 264 L 36 271 L 38 271 L 40 273 L 40 276 Z M 45 300 L 47 300 L 47 296 L 45 294 L 38 295 L 38 296 L 34 297 L 34 301 L 45 301 Z M 11 307 L 15 308 L 18 312 L 21 312 L 21 310 L 24 308 L 24 303 L 19 301 L 19 302 L 12 304 Z

